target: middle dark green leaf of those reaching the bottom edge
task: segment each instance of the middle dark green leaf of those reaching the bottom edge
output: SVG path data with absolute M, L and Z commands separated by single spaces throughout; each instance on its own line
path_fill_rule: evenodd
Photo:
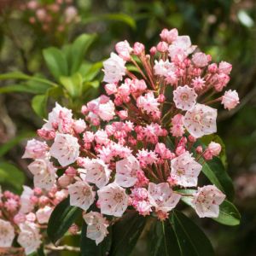
M 177 237 L 169 221 L 157 220 L 148 236 L 151 256 L 182 256 Z

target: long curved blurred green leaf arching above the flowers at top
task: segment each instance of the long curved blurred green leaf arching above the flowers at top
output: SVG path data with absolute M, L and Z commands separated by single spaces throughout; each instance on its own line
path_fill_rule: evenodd
M 98 20 L 121 21 L 121 22 L 124 22 L 126 25 L 131 26 L 132 29 L 136 28 L 136 21 L 133 18 L 131 18 L 131 16 L 125 15 L 125 14 L 93 15 L 93 16 L 90 16 L 89 18 L 88 17 L 84 18 L 82 21 L 84 23 L 90 23 Z

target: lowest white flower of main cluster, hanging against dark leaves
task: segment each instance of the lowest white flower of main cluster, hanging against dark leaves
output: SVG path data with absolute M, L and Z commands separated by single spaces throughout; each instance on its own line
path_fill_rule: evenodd
M 86 236 L 96 241 L 96 245 L 103 241 L 108 235 L 108 221 L 99 212 L 89 212 L 84 214 L 84 221 L 87 224 Z

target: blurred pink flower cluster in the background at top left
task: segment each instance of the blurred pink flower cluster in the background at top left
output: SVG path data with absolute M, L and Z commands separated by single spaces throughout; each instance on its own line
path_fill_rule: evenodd
M 41 27 L 44 32 L 64 32 L 67 26 L 79 20 L 78 10 L 73 0 L 56 0 L 53 3 L 38 3 L 30 0 L 22 3 L 20 9 L 33 26 Z

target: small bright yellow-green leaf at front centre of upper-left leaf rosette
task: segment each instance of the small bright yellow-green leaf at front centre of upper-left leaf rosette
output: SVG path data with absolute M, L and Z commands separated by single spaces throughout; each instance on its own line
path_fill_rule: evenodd
M 73 98 L 81 96 L 83 91 L 83 79 L 79 73 L 73 74 L 72 77 L 61 77 L 60 81 L 70 96 Z

